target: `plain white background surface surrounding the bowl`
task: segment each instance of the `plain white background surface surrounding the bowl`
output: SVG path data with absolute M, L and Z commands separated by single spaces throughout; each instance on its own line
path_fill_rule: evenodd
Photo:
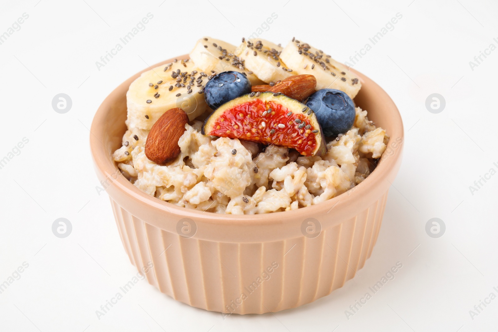
M 138 3 L 140 2 L 140 3 Z M 496 1 L 2 1 L 0 33 L 29 18 L 0 45 L 0 283 L 29 267 L 0 294 L 1 331 L 496 331 L 498 299 L 474 319 L 498 286 Z M 154 15 L 105 67 L 106 51 L 148 12 Z M 355 66 L 391 96 L 405 127 L 404 156 L 390 189 L 377 244 L 359 276 L 297 309 L 232 315 L 189 307 L 140 281 L 99 320 L 95 311 L 136 273 L 120 241 L 106 193 L 93 171 L 89 130 L 104 98 L 125 79 L 188 53 L 203 35 L 238 44 L 276 13 L 261 38 L 305 39 L 339 61 L 402 18 Z M 65 93 L 72 109 L 56 113 Z M 427 96 L 446 100 L 438 114 Z M 493 163 L 497 162 L 497 165 Z M 69 237 L 51 230 L 71 221 Z M 425 224 L 440 218 L 442 237 Z M 391 266 L 403 267 L 349 320 L 345 310 Z

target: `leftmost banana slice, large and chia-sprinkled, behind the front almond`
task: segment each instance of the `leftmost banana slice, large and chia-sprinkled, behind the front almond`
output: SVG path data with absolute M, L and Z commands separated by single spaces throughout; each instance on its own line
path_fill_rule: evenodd
M 207 76 L 191 60 L 175 60 L 144 72 L 126 93 L 128 128 L 150 130 L 165 111 L 177 107 L 192 121 L 206 110 Z

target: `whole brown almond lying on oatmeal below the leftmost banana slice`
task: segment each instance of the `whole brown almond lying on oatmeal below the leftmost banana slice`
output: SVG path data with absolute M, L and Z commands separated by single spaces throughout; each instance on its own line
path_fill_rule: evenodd
M 185 131 L 188 115 L 180 108 L 165 111 L 152 125 L 145 142 L 145 155 L 156 164 L 165 164 L 180 154 L 178 139 Z

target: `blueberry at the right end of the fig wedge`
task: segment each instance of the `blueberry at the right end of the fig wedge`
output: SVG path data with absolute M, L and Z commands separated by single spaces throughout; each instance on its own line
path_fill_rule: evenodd
M 355 105 L 340 90 L 318 90 L 308 98 L 306 106 L 315 112 L 325 136 L 344 134 L 355 123 Z

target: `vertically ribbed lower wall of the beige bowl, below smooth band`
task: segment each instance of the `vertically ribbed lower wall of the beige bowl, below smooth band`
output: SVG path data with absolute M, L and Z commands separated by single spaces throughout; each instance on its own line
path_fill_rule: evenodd
M 136 218 L 112 198 L 111 204 L 131 263 L 138 270 L 153 264 L 146 274 L 151 285 L 177 301 L 228 315 L 295 308 L 342 287 L 370 257 L 386 199 L 387 191 L 314 238 L 259 243 L 185 238 Z

